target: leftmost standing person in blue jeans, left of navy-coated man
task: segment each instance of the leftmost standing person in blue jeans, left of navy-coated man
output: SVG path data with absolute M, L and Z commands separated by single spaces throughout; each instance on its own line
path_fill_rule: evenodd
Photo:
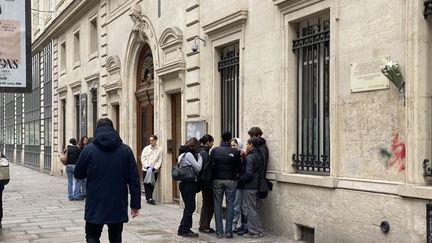
M 75 188 L 74 184 L 74 170 L 80 155 L 80 149 L 77 146 L 75 138 L 69 139 L 69 144 L 67 145 L 67 162 L 66 162 L 66 175 L 68 177 L 68 199 L 69 201 L 80 201 L 83 200 L 81 197 L 81 180 L 75 178 Z

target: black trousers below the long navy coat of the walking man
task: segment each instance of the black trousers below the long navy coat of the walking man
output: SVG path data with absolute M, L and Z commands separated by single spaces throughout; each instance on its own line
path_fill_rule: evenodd
M 103 224 L 93 224 L 86 222 L 86 240 L 87 243 L 100 243 Z M 122 242 L 123 223 L 108 224 L 108 239 L 110 243 Z

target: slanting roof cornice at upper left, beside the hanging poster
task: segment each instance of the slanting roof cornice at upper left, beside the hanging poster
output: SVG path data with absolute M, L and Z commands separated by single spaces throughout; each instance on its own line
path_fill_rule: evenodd
M 87 11 L 90 7 L 95 6 L 98 3 L 99 1 L 94 0 L 72 1 L 72 3 L 66 6 L 60 15 L 46 27 L 44 32 L 33 41 L 32 53 L 41 50 L 47 41 L 55 38 L 66 29 L 71 28 L 71 22 L 74 22 L 82 16 L 80 11 Z

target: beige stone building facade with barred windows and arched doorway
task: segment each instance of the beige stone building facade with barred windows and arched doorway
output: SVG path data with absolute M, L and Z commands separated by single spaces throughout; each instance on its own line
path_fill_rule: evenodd
M 100 117 L 114 121 L 137 158 L 157 134 L 156 199 L 172 203 L 180 196 L 170 170 L 187 137 L 204 131 L 219 141 L 230 130 L 246 140 L 259 126 L 274 183 L 260 206 L 268 231 L 316 242 L 425 241 L 432 22 L 423 1 L 63 0 L 52 8 L 33 49 L 52 43 L 54 156 L 70 137 L 91 136 Z M 387 61 L 399 64 L 404 91 L 380 73 Z M 53 162 L 52 172 L 61 170 Z

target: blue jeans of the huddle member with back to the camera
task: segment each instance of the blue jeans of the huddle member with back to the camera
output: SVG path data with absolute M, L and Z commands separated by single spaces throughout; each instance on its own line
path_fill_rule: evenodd
M 216 234 L 223 234 L 222 200 L 225 192 L 226 198 L 226 225 L 225 234 L 232 233 L 232 219 L 234 214 L 234 199 L 237 182 L 234 180 L 214 180 L 214 214 L 216 223 Z

